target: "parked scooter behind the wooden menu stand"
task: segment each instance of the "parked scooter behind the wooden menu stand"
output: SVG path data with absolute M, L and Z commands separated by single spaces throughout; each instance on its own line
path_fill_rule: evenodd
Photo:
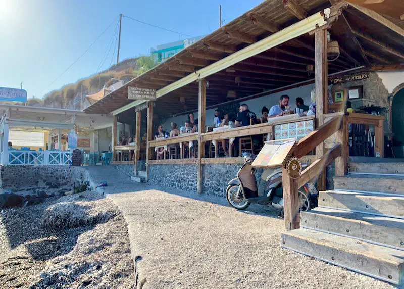
M 282 170 L 265 170 L 261 178 L 265 181 L 264 195 L 258 195 L 255 168 L 251 156 L 244 158 L 243 166 L 237 172 L 237 178 L 229 181 L 226 199 L 230 206 L 245 210 L 252 203 L 283 209 Z M 303 165 L 303 168 L 307 165 Z M 298 190 L 300 211 L 308 211 L 317 203 L 318 191 L 313 183 L 308 182 Z

